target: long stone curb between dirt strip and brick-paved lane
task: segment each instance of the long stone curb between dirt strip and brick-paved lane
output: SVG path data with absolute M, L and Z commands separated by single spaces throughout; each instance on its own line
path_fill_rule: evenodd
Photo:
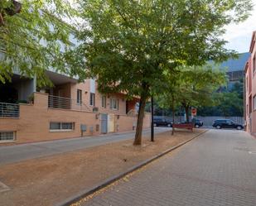
M 206 130 L 205 132 L 208 132 L 208 130 Z M 196 135 L 196 137 L 199 137 L 200 135 L 204 134 L 205 132 L 201 132 L 200 134 Z M 157 160 L 158 158 L 167 155 L 167 153 L 169 153 L 170 151 L 174 151 L 178 147 L 185 145 L 186 143 L 188 143 L 189 141 L 192 141 L 196 137 L 192 137 L 191 139 L 183 141 L 176 146 L 172 146 L 167 151 L 163 151 L 162 153 L 158 154 L 157 156 L 153 156 L 150 159 L 144 160 L 141 163 L 139 163 L 138 165 L 131 167 L 130 169 L 128 169 L 127 171 L 125 171 L 123 173 L 114 175 L 114 176 L 110 177 L 109 179 L 104 180 L 104 182 L 95 185 L 94 187 L 92 187 L 92 189 L 82 190 L 79 194 L 75 194 L 74 196 L 70 197 L 69 199 L 65 199 L 65 201 L 63 201 L 62 203 L 56 204 L 56 206 L 70 206 L 70 204 L 75 204 L 76 202 L 80 201 L 80 199 L 84 199 L 85 197 L 89 196 L 89 194 L 94 194 L 94 192 L 98 191 L 99 189 L 103 189 L 104 187 L 108 186 L 109 184 L 114 183 L 117 180 L 122 179 L 124 176 L 132 173 L 133 171 L 142 168 L 144 165 L 147 165 L 147 164 L 151 163 L 152 161 Z

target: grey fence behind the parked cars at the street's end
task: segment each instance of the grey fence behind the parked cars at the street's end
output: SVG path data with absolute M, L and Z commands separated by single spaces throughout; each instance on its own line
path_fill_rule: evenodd
M 171 120 L 171 122 L 172 122 L 172 117 L 167 117 L 167 116 L 154 116 L 154 117 L 167 118 L 167 119 Z M 196 118 L 203 121 L 204 126 L 212 126 L 212 123 L 215 122 L 216 119 L 231 119 L 235 123 L 244 124 L 244 117 L 200 117 L 200 116 L 196 116 Z M 184 116 L 176 116 L 175 117 L 175 122 L 183 122 L 183 121 L 185 121 Z

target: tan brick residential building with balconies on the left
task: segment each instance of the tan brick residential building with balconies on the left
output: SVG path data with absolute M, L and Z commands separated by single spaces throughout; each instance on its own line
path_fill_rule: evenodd
M 78 83 L 64 74 L 49 70 L 46 74 L 54 86 L 40 92 L 36 92 L 36 79 L 21 78 L 18 74 L 13 75 L 11 84 L 0 87 L 0 143 L 46 141 L 136 128 L 138 98 L 127 100 L 124 93 L 101 94 L 94 79 Z M 145 113 L 143 127 L 150 127 L 150 117 L 150 113 Z

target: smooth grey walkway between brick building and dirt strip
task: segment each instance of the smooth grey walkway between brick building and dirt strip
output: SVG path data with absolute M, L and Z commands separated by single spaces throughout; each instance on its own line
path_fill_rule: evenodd
M 157 127 L 155 132 L 167 132 L 168 127 Z M 134 138 L 135 132 L 113 133 L 99 137 L 79 137 L 55 141 L 43 141 L 16 146 L 0 146 L 0 165 L 29 160 L 37 157 L 52 156 L 69 151 L 77 151 L 92 146 L 101 146 L 112 142 L 125 141 Z M 150 130 L 143 132 L 150 135 Z

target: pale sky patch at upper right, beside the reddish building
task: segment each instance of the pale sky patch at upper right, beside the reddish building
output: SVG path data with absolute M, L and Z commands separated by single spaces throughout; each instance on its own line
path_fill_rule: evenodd
M 254 2 L 254 10 L 245 22 L 226 27 L 224 38 L 229 41 L 225 46 L 227 49 L 236 50 L 239 53 L 249 52 L 252 33 L 256 31 L 256 0 L 252 0 L 252 2 Z

